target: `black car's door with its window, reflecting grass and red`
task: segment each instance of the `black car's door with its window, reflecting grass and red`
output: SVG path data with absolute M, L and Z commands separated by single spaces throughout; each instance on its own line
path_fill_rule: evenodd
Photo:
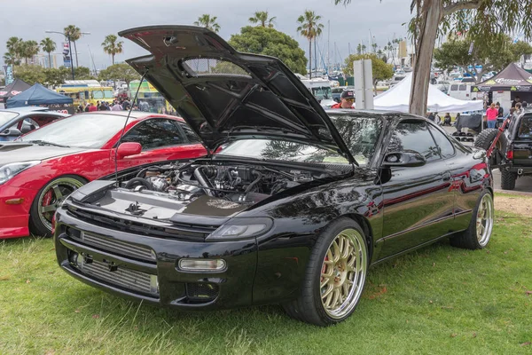
M 387 168 L 389 178 L 382 184 L 381 257 L 393 256 L 449 233 L 454 207 L 450 171 L 428 124 L 422 119 L 403 119 L 389 138 L 387 153 L 415 151 L 426 158 L 426 164 Z

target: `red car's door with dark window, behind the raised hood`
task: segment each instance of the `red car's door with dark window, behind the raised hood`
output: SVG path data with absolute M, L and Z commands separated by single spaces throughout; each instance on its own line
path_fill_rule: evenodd
M 151 162 L 197 158 L 206 154 L 203 146 L 187 138 L 178 122 L 170 119 L 152 118 L 139 122 L 121 141 L 140 143 L 142 152 L 119 159 L 119 170 Z

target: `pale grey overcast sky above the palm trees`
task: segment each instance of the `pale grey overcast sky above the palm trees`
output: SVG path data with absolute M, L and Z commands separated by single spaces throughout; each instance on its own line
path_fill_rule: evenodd
M 6 51 L 5 42 L 11 36 L 33 39 L 40 42 L 50 36 L 61 51 L 60 35 L 46 34 L 45 30 L 62 31 L 74 24 L 83 32 L 77 43 L 79 65 L 89 67 L 90 51 L 96 67 L 111 65 L 111 58 L 102 50 L 101 43 L 106 35 L 116 34 L 127 28 L 145 25 L 186 24 L 190 25 L 203 13 L 218 17 L 221 29 L 219 35 L 229 40 L 232 34 L 249 24 L 248 18 L 256 11 L 268 11 L 276 16 L 275 28 L 293 36 L 303 50 L 309 45 L 297 34 L 297 18 L 306 10 L 322 16 L 325 25 L 324 36 L 318 45 L 324 51 L 327 43 L 327 21 L 330 20 L 331 62 L 334 60 L 334 43 L 338 49 L 337 60 L 348 55 L 356 45 L 364 41 L 368 45 L 370 31 L 380 46 L 395 37 L 406 36 L 403 25 L 411 19 L 411 0 L 352 0 L 347 7 L 334 5 L 332 0 L 0 0 L 0 51 Z M 115 60 L 122 61 L 145 54 L 136 44 L 124 41 L 124 52 Z M 0 60 L 1 57 L 0 57 Z M 62 60 L 58 56 L 58 60 Z

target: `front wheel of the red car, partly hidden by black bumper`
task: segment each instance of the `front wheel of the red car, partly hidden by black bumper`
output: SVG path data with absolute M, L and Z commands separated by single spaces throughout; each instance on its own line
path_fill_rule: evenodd
M 29 231 L 42 237 L 51 237 L 51 218 L 59 205 L 74 190 L 87 184 L 82 177 L 65 175 L 56 177 L 44 185 L 31 204 Z

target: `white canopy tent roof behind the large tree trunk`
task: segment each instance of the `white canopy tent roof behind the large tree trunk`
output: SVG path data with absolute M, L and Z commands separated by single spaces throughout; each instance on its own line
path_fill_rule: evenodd
M 400 83 L 384 91 L 373 99 L 376 110 L 408 112 L 412 74 L 409 73 Z M 447 96 L 434 85 L 428 84 L 426 108 L 430 112 L 466 112 L 483 110 L 481 100 L 461 100 Z

